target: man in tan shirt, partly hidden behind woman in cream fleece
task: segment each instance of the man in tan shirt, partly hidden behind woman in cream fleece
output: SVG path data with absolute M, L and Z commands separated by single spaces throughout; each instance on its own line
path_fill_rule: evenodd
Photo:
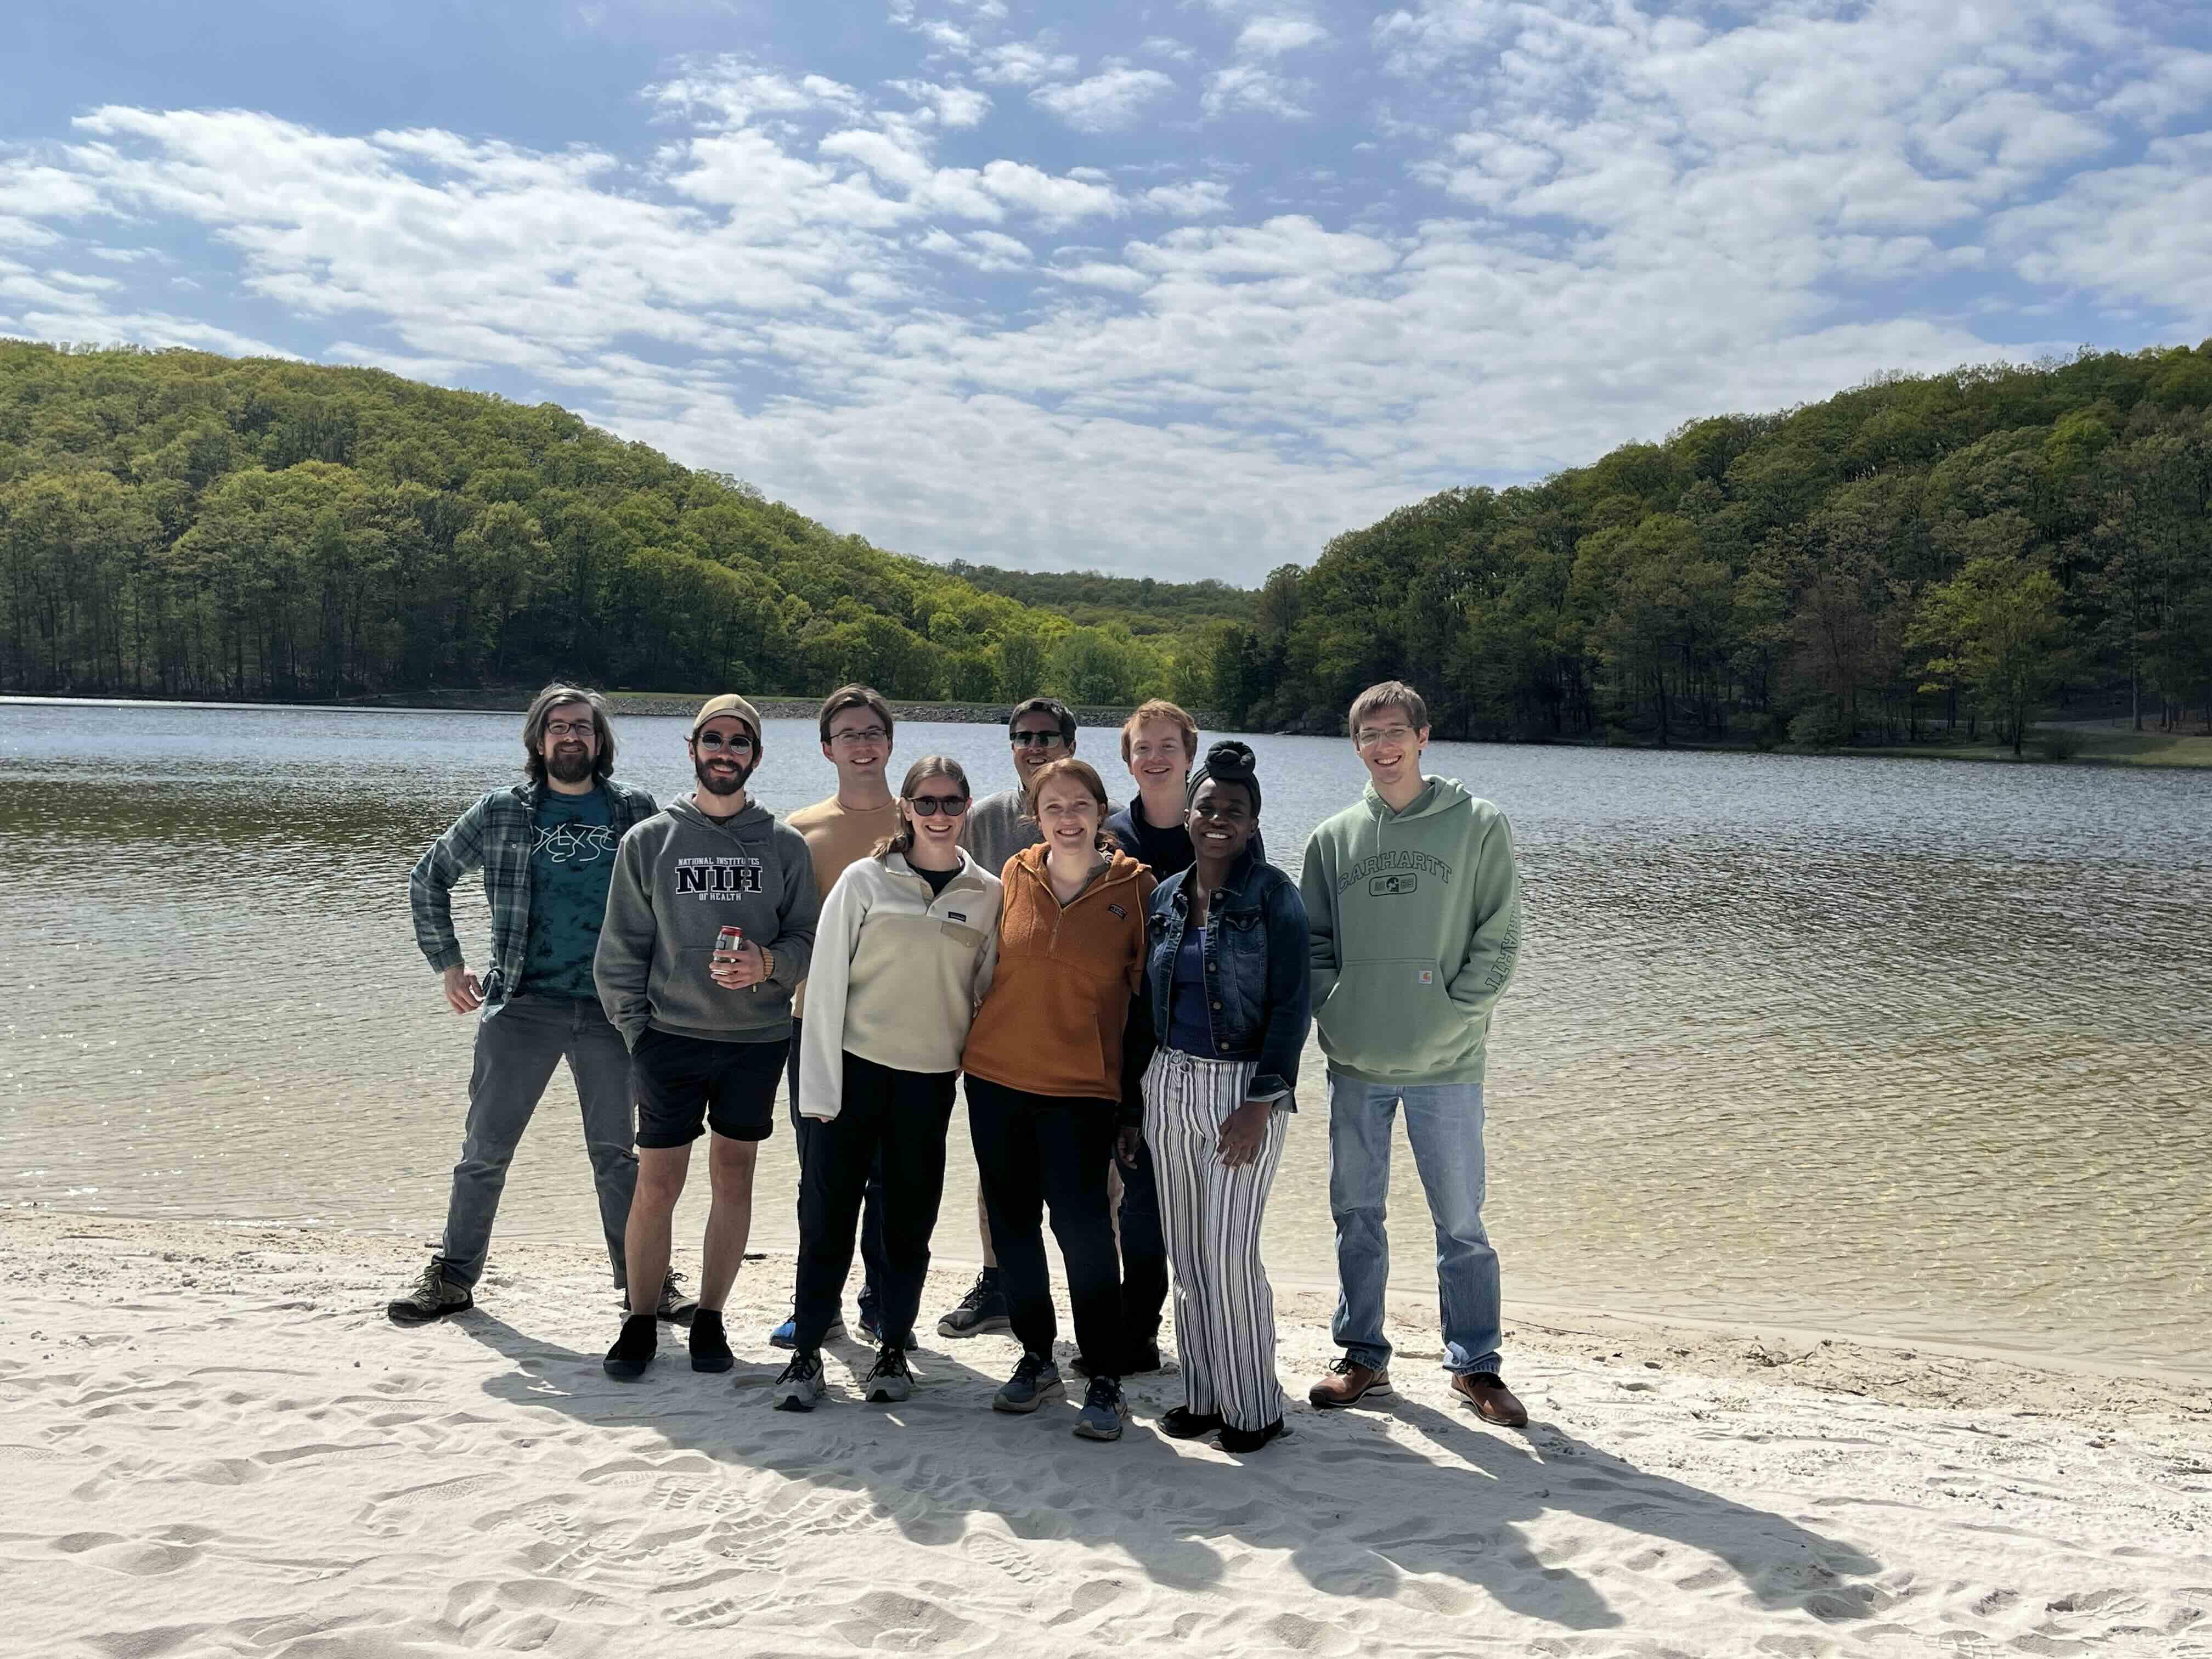
M 801 807 L 785 823 L 805 836 L 807 852 L 814 854 L 814 885 L 830 896 L 836 878 L 847 865 L 867 858 L 876 843 L 898 827 L 898 801 L 885 779 L 891 761 L 891 706 L 867 686 L 838 686 L 821 706 L 823 754 L 836 768 L 836 794 Z M 799 1115 L 799 1051 L 807 1013 L 807 989 L 799 987 L 792 998 L 792 1062 L 785 1073 L 785 1093 L 792 1108 L 792 1135 L 799 1137 L 799 1161 L 807 1157 L 807 1135 L 816 1126 L 812 1117 Z M 867 1183 L 867 1199 L 860 1212 L 860 1340 L 883 1347 L 883 1332 L 876 1329 L 876 1283 L 883 1279 L 883 1170 Z M 832 1327 L 832 1336 L 843 1336 L 843 1325 Z M 911 1347 L 911 1334 L 907 1336 Z M 790 1347 L 796 1340 L 794 1321 L 783 1321 L 768 1340 Z

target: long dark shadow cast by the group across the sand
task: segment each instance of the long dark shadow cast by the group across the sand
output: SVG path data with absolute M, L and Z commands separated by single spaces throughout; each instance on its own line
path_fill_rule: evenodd
M 1394 1597 L 1405 1575 L 1440 1575 L 1498 1606 L 1568 1630 L 1617 1628 L 1621 1617 L 1568 1559 L 1601 1544 L 1571 1540 L 1540 1557 L 1524 1524 L 1568 1513 L 1641 1533 L 1666 1551 L 1683 1588 L 1721 1568 L 1761 1608 L 1823 1621 L 1865 1617 L 1880 1562 L 1796 1522 L 1697 1486 L 1650 1475 L 1548 1425 L 1526 1433 L 1394 1398 L 1387 1413 L 1316 1413 L 1298 1405 L 1294 1433 L 1245 1460 L 1177 1447 L 1150 1420 L 1181 1400 L 1175 1376 L 1133 1378 L 1137 1418 L 1119 1444 L 1068 1433 L 1071 1405 L 1029 1418 L 993 1413 L 1000 1374 L 942 1349 L 916 1354 L 918 1387 L 898 1407 L 863 1405 L 854 1378 L 872 1354 L 856 1343 L 825 1352 L 832 1394 L 812 1413 L 768 1407 L 774 1367 L 743 1358 L 732 1376 L 690 1371 L 681 1334 L 639 1383 L 613 1383 L 597 1354 L 580 1354 L 482 1312 L 453 1321 L 513 1363 L 484 1385 L 520 1407 L 557 1411 L 595 1429 L 650 1429 L 670 1449 L 712 1464 L 772 1471 L 810 1489 L 867 1493 L 880 1517 L 916 1544 L 956 1546 L 969 1517 L 998 1515 L 1015 1540 L 1079 1540 L 1119 1551 L 1155 1584 L 1206 1590 L 1223 1577 L 1221 1544 L 1285 1553 L 1327 1595 Z M 982 1338 L 975 1358 L 1006 1360 L 1013 1345 Z M 1004 1354 L 1002 1354 L 1004 1349 Z M 1066 1369 L 1062 1365 L 1062 1369 Z M 1467 1467 L 1431 1462 L 1394 1442 L 1383 1416 L 1411 1427 Z M 628 1444 L 628 1442 L 626 1442 Z M 613 1453 L 613 1449 L 611 1449 Z M 637 1460 L 599 1473 L 637 1478 Z M 1557 1535 L 1559 1528 L 1548 1528 Z M 1637 1551 L 1650 1555 L 1650 1551 Z

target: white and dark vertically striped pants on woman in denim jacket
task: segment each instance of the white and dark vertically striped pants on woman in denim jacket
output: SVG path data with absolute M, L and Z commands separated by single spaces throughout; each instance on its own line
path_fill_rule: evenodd
M 1175 1265 L 1175 1345 L 1183 1405 L 1237 1429 L 1283 1416 L 1274 1380 L 1274 1290 L 1259 1259 L 1259 1223 L 1283 1161 L 1290 1113 L 1267 1113 L 1259 1157 L 1237 1170 L 1214 1146 L 1243 1106 L 1250 1062 L 1161 1048 L 1144 1073 L 1144 1137 L 1159 1179 L 1159 1223 Z

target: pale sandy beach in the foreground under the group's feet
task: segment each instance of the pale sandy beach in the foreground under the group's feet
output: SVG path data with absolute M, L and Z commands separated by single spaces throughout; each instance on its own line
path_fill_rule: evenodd
M 993 1416 L 1002 1336 L 925 1336 L 896 1409 L 847 1345 L 832 1400 L 770 1411 L 790 1261 L 745 1270 L 734 1380 L 664 1345 L 635 1385 L 584 1250 L 498 1250 L 480 1312 L 403 1332 L 418 1263 L 0 1217 L 0 1652 L 2212 1655 L 2179 1385 L 1522 1318 L 1506 1433 L 1405 1303 L 1396 1400 L 1318 1416 L 1298 1292 L 1296 1433 L 1239 1460 L 1150 1429 L 1172 1374 L 1113 1447 Z

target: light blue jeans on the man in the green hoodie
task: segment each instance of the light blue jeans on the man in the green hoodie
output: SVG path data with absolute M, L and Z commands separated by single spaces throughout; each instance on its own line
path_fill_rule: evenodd
M 1498 1369 L 1498 1252 L 1482 1230 L 1482 1084 L 1363 1084 L 1329 1071 L 1329 1214 L 1336 1217 L 1336 1318 L 1329 1336 L 1360 1365 L 1389 1365 L 1383 1287 L 1389 1283 L 1389 1141 L 1405 1137 L 1436 1223 L 1436 1292 L 1444 1369 Z

